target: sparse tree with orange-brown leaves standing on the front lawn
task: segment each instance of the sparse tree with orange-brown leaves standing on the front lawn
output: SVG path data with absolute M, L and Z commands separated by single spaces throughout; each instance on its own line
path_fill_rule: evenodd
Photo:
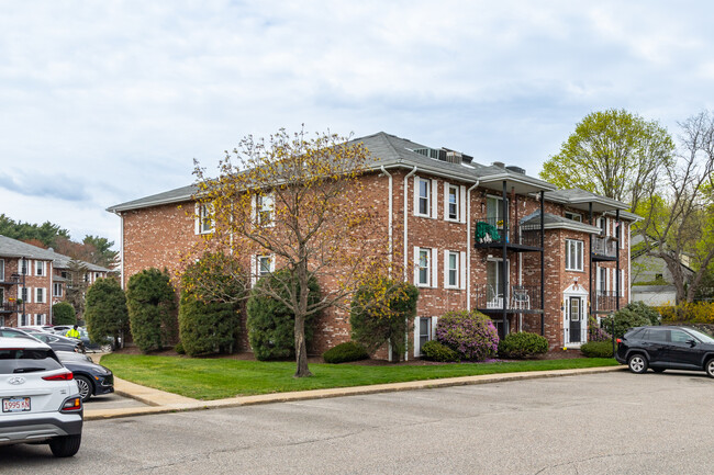
M 256 261 L 261 273 L 275 267 L 290 275 L 268 280 L 257 292 L 294 315 L 295 377 L 311 375 L 308 318 L 342 305 L 365 274 L 383 270 L 388 262 L 387 237 L 377 233 L 377 205 L 354 205 L 362 193 L 359 177 L 368 158 L 362 145 L 336 135 L 310 138 L 304 132 L 291 136 L 281 129 L 268 140 L 244 138 L 220 162 L 217 178 L 196 167 L 197 200 L 203 206 L 199 210 L 212 210 L 214 231 L 208 235 L 208 246 L 265 257 Z M 310 297 L 311 276 L 331 282 L 316 301 Z

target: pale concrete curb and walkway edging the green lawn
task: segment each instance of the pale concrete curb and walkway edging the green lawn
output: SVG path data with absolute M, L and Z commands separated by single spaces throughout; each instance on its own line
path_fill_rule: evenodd
M 121 409 L 86 409 L 85 420 L 103 420 L 120 417 L 145 416 L 149 414 L 180 412 L 226 407 L 253 406 L 257 404 L 290 403 L 295 400 L 322 399 L 327 397 L 359 396 L 398 391 L 429 389 L 436 387 L 465 386 L 473 384 L 505 383 L 511 381 L 539 380 L 546 377 L 577 376 L 581 374 L 624 371 L 626 366 L 588 367 L 582 370 L 529 371 L 523 373 L 482 374 L 478 376 L 447 377 L 442 380 L 411 381 L 406 383 L 376 384 L 371 386 L 338 387 L 331 389 L 274 393 L 257 396 L 238 396 L 226 399 L 197 400 L 165 393 L 115 378 L 116 393 L 134 398 L 149 407 Z

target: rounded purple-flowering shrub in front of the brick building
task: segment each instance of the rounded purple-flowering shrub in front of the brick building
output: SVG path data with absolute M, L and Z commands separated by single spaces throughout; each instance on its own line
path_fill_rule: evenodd
M 436 324 L 436 340 L 456 351 L 462 360 L 481 361 L 499 349 L 493 321 L 478 310 L 449 312 Z

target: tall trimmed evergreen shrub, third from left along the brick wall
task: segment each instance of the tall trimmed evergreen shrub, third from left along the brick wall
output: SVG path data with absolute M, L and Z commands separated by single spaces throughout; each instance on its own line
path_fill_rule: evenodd
M 222 252 L 207 252 L 181 276 L 179 335 L 190 357 L 232 353 L 241 327 L 245 272 Z

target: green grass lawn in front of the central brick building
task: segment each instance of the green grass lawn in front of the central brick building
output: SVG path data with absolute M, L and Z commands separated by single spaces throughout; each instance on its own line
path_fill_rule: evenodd
M 617 362 L 613 359 L 580 358 L 422 366 L 311 364 L 310 371 L 313 376 L 300 380 L 292 377 L 295 369 L 293 362 L 107 354 L 102 357 L 102 364 L 123 380 L 196 399 L 211 400 L 238 395 L 364 386 L 477 374 L 614 366 Z

